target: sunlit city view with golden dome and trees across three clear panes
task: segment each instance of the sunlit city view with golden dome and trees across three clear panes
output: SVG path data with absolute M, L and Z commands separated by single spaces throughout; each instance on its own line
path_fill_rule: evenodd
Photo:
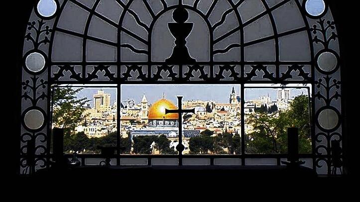
M 183 154 L 241 153 L 240 85 L 121 85 L 120 91 L 118 106 L 116 88 L 54 88 L 64 98 L 54 96 L 53 127 L 67 128 L 67 153 L 117 146 L 120 116 L 122 154 L 177 154 L 178 114 L 165 114 L 178 108 L 176 96 L 184 97 L 183 109 L 195 109 L 182 114 Z M 300 152 L 311 152 L 307 88 L 245 88 L 243 106 L 246 153 L 286 153 L 292 125 L 300 128 Z M 66 107 L 76 114 L 73 123 L 64 121 Z

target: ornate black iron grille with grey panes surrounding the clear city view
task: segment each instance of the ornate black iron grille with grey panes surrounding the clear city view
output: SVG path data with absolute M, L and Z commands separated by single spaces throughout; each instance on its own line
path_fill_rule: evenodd
M 122 84 L 240 84 L 242 106 L 245 84 L 311 84 L 313 153 L 301 158 L 311 158 L 318 173 L 330 174 L 331 140 L 337 139 L 340 144 L 342 141 L 338 35 L 327 3 L 320 0 L 324 2 L 321 12 L 314 14 L 307 9 L 308 1 L 311 0 L 38 1 L 23 47 L 21 173 L 49 166 L 53 84 L 116 84 L 118 102 Z M 49 13 L 41 10 L 46 2 L 51 3 Z M 154 56 L 159 51 L 154 48 L 156 23 L 177 21 L 166 21 L 163 16 L 179 8 L 190 13 L 192 20 L 194 16 L 202 20 L 208 31 L 203 36 L 208 39 L 208 52 L 204 50 L 208 57 L 184 62 Z M 291 21 L 286 23 L 287 17 Z M 97 33 L 92 25 L 96 20 L 111 28 L 101 27 L 105 32 Z M 199 24 L 194 21 L 194 27 L 196 23 Z M 269 25 L 269 33 L 263 33 L 265 28 L 260 30 L 258 24 Z M 115 30 L 114 38 L 111 30 Z M 111 36 L 106 38 L 107 34 Z M 119 112 L 120 107 L 118 116 Z M 285 155 L 245 154 L 243 107 L 241 114 L 242 152 L 226 158 L 240 158 L 242 165 L 247 158 L 274 158 L 280 165 Z M 333 121 L 324 121 L 329 116 Z M 119 138 L 119 117 L 117 121 Z M 34 163 L 30 163 L 32 155 L 26 151 L 31 140 Z M 83 165 L 86 158 L 96 157 L 80 156 Z M 119 165 L 124 158 L 146 159 L 151 165 L 153 158 L 172 157 L 178 156 L 127 156 L 120 155 L 119 149 L 114 156 Z M 224 156 L 186 158 L 207 158 L 213 165 L 215 159 Z

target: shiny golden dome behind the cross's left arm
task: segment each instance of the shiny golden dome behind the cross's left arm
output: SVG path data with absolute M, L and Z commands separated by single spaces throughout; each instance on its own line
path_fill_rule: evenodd
M 168 113 L 165 115 L 165 109 L 177 109 L 175 104 L 166 99 L 156 101 L 151 105 L 148 119 L 178 119 L 177 113 Z

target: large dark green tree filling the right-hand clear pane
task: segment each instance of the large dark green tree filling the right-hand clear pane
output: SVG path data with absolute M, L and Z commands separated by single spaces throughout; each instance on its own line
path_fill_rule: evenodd
M 275 110 L 276 105 L 271 106 Z M 270 107 L 270 108 L 271 108 Z M 246 136 L 248 153 L 287 153 L 287 128 L 299 128 L 299 152 L 311 152 L 309 98 L 296 97 L 287 110 L 267 114 L 256 111 L 250 114 L 247 124 L 254 132 Z

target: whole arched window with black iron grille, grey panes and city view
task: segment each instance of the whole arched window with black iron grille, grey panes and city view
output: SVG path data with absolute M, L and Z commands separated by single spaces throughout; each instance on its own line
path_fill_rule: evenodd
M 77 102 L 91 103 L 82 106 L 82 111 L 92 115 L 83 116 L 72 130 L 89 131 L 87 135 L 94 138 L 113 132 L 118 147 L 113 163 L 118 165 L 154 165 L 164 159 L 158 139 L 148 145 L 149 153 L 135 148 L 140 136 L 151 138 L 154 131 L 163 129 L 160 133 L 167 138 L 178 138 L 178 116 L 158 118 L 153 112 L 156 104 L 178 107 L 171 103 L 176 103 L 175 98 L 165 103 L 165 95 L 162 100 L 158 96 L 160 102 L 149 99 L 149 94 L 163 93 L 159 91 L 187 91 L 183 108 L 194 106 L 196 117 L 208 120 L 195 123 L 191 122 L 195 115 L 183 114 L 184 151 L 190 152 L 180 155 L 176 151 L 179 142 L 171 140 L 173 153 L 166 157 L 169 164 L 280 165 L 286 159 L 286 148 L 281 146 L 286 136 L 279 138 L 284 131 L 267 131 L 250 120 L 259 119 L 259 110 L 267 112 L 264 118 L 278 118 L 300 99 L 291 98 L 298 92 L 308 101 L 304 107 L 309 119 L 298 126 L 309 131 L 304 142 L 300 140 L 300 144 L 308 144 L 306 152 L 300 149 L 300 158 L 319 174 L 332 172 L 332 142 L 342 145 L 341 67 L 336 23 L 325 0 L 39 0 L 27 28 L 21 173 L 29 170 L 26 154 L 30 140 L 36 154 L 34 168 L 50 166 L 51 131 L 59 126 L 54 123 L 59 107 L 54 105 L 55 92 L 70 89 L 78 95 L 80 88 L 94 95 L 92 102 Z M 224 90 L 229 92 L 227 101 L 217 102 L 215 97 L 222 97 L 223 87 L 229 89 Z M 262 94 L 254 93 L 257 91 Z M 137 100 L 128 97 L 134 92 L 139 94 Z M 215 100 L 186 96 L 195 94 L 199 98 L 209 94 Z M 251 94 L 260 98 L 254 101 Z M 151 128 L 155 126 L 161 128 Z M 197 153 L 190 139 L 195 141 L 209 128 L 213 144 L 217 133 L 221 137 L 232 134 L 232 139 L 225 146 L 216 143 L 221 145 L 220 152 L 212 147 Z M 277 138 L 274 151 L 259 152 L 267 145 L 253 146 L 261 131 L 265 131 L 263 135 L 274 133 L 269 136 Z M 127 133 L 130 139 L 126 141 L 132 146 L 122 154 L 121 141 Z M 234 143 L 236 135 L 238 145 Z M 136 149 L 144 153 L 130 155 Z M 79 155 L 83 164 L 100 157 L 85 154 L 85 150 Z

